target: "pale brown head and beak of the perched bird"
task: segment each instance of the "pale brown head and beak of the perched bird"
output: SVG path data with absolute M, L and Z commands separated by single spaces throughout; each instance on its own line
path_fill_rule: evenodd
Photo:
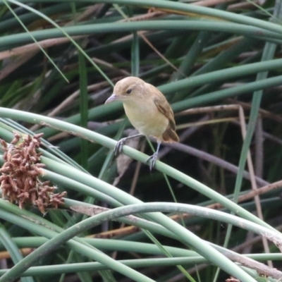
M 133 99 L 133 97 L 136 99 L 136 97 L 142 96 L 144 89 L 145 82 L 142 79 L 128 76 L 116 83 L 113 94 L 106 100 L 105 104 L 114 101 L 125 102 Z

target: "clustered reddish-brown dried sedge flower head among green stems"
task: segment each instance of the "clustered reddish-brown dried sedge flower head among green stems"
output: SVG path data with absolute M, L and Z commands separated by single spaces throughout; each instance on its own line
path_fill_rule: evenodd
M 54 194 L 56 187 L 50 186 L 49 181 L 39 179 L 45 165 L 40 163 L 41 153 L 37 153 L 36 149 L 41 144 L 43 133 L 23 137 L 18 133 L 14 135 L 11 144 L 0 139 L 5 161 L 0 168 L 2 197 L 18 203 L 20 209 L 25 204 L 34 204 L 42 214 L 47 207 L 58 208 L 59 204 L 63 204 L 66 192 Z

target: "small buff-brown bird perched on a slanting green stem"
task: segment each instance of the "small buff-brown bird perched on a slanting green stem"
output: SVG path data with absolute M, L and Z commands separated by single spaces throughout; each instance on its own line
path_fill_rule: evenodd
M 166 97 L 154 85 L 140 78 L 129 76 L 119 80 L 114 93 L 105 104 L 121 101 L 130 123 L 140 134 L 122 138 L 116 144 L 115 154 L 120 154 L 126 140 L 142 135 L 153 136 L 157 139 L 157 151 L 147 159 L 152 160 L 150 169 L 155 165 L 161 142 L 178 142 L 176 122 L 173 111 Z M 146 161 L 146 162 L 147 162 Z

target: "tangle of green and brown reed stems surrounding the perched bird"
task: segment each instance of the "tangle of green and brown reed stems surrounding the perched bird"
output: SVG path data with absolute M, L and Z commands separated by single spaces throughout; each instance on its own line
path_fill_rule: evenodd
M 280 281 L 281 18 L 280 0 L 1 0 L 0 137 L 44 133 L 68 195 L 44 217 L 0 201 L 0 281 Z M 133 132 L 104 102 L 128 75 L 176 114 L 152 173 L 154 140 L 113 154 Z

